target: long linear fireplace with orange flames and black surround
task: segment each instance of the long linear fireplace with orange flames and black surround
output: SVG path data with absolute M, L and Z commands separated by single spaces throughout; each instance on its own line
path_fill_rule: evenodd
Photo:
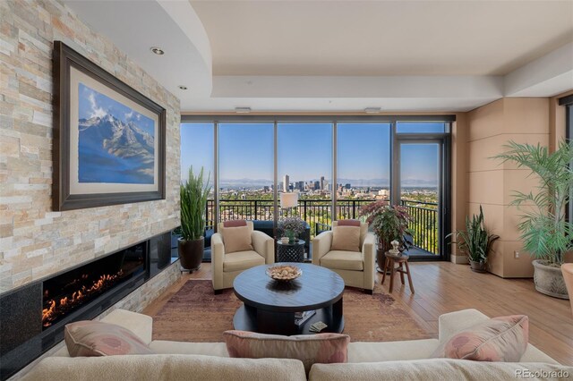
M 95 318 L 172 263 L 171 234 L 0 295 L 0 380 L 64 338 L 64 326 Z

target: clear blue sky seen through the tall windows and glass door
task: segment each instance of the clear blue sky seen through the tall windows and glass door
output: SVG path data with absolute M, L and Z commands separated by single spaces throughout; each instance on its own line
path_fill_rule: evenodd
M 399 123 L 398 131 L 443 131 L 443 123 Z M 213 172 L 213 124 L 184 123 L 181 127 L 182 176 L 190 165 Z M 273 124 L 219 125 L 221 181 L 273 179 Z M 389 123 L 338 123 L 338 179 L 389 179 Z M 405 144 L 401 148 L 403 186 L 435 186 L 438 145 Z M 278 123 L 278 182 L 330 181 L 332 128 L 330 123 Z M 212 176 L 211 176 L 212 177 Z

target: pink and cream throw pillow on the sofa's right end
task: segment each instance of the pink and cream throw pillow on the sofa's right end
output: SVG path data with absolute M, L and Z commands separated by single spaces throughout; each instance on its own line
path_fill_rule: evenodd
M 529 319 L 525 315 L 491 318 L 454 334 L 432 358 L 517 362 L 526 351 Z

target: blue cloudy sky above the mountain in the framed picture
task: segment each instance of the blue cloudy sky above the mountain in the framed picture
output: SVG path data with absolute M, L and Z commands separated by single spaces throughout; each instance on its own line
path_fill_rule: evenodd
M 126 124 L 133 122 L 141 130 L 154 136 L 154 123 L 149 117 L 138 113 L 128 106 L 124 106 L 122 103 L 91 89 L 81 82 L 78 85 L 78 94 L 80 98 L 78 116 L 80 119 L 90 119 L 96 116 L 103 118 L 107 114 L 112 114 L 115 119 Z

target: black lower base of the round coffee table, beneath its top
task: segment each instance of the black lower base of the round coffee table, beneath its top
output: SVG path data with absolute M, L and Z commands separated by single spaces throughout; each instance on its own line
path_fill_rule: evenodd
M 340 334 L 344 331 L 344 316 L 342 316 L 341 309 L 342 299 L 329 307 L 316 309 L 316 314 L 305 321 L 302 326 L 296 326 L 294 312 L 271 312 L 244 304 L 236 310 L 233 326 L 237 330 L 261 334 L 314 334 L 310 331 L 310 327 L 322 321 L 328 327 L 321 333 Z

